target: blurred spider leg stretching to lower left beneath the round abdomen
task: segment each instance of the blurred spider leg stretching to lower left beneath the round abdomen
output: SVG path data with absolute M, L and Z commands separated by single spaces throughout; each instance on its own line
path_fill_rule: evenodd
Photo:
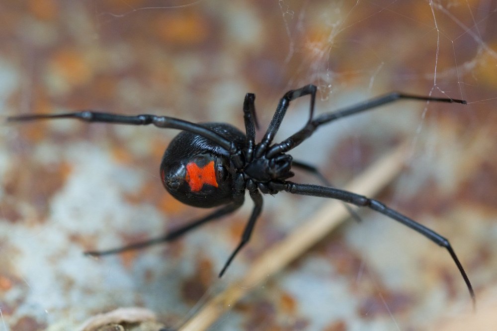
M 135 244 L 131 244 L 129 246 L 125 247 L 120 247 L 120 248 L 112 248 L 112 249 L 107 249 L 107 250 L 95 250 L 95 251 L 85 251 L 84 255 L 90 255 L 90 256 L 102 256 L 102 255 L 109 255 L 109 254 L 116 254 L 120 253 L 126 250 L 132 250 L 132 249 L 139 249 L 139 248 L 146 248 L 152 245 L 156 244 L 161 244 L 161 243 L 166 243 L 173 241 L 185 233 L 189 232 L 190 230 L 193 230 L 200 225 L 207 223 L 212 220 L 216 220 L 221 218 L 222 216 L 228 215 L 230 213 L 233 213 L 235 210 L 240 208 L 243 205 L 243 196 L 241 201 L 236 201 L 234 203 L 228 204 L 224 207 L 219 208 L 218 210 L 214 211 L 212 214 L 209 214 L 207 216 L 204 216 L 198 220 L 189 222 L 188 224 L 173 230 L 172 232 L 167 233 L 164 236 L 158 237 L 158 238 L 153 238 L 144 242 L 139 242 Z

